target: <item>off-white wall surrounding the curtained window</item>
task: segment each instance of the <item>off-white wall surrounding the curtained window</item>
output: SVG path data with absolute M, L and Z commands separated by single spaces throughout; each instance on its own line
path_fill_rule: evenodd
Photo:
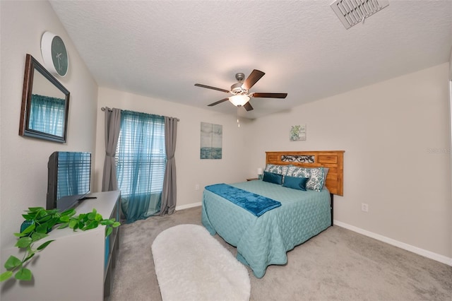
M 133 110 L 148 114 L 177 117 L 176 173 L 177 173 L 177 208 L 186 208 L 200 204 L 203 187 L 218 182 L 242 182 L 249 175 L 246 170 L 250 153 L 246 151 L 246 121 L 237 127 L 237 118 L 219 114 L 210 110 L 180 105 L 143 97 L 131 93 L 100 88 L 97 107 L 97 145 L 95 166 L 95 187 L 100 191 L 102 170 L 105 159 L 105 112 L 101 107 L 117 107 L 121 110 Z M 201 160 L 201 122 L 221 124 L 222 160 Z M 195 185 L 199 184 L 199 190 Z

